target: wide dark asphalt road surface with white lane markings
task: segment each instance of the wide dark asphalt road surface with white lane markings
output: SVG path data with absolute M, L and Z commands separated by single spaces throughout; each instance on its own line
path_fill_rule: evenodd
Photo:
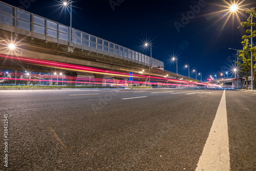
M 256 170 L 253 93 L 8 90 L 0 100 L 0 170 Z

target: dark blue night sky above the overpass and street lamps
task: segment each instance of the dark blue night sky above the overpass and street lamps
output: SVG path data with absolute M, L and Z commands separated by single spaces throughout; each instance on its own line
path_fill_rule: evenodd
M 178 56 L 178 73 L 182 75 L 188 76 L 184 68 L 186 64 L 190 66 L 190 77 L 195 78 L 191 70 L 196 69 L 197 73 L 203 74 L 203 80 L 210 74 L 228 71 L 236 54 L 228 48 L 242 49 L 245 30 L 238 28 L 240 22 L 237 16 L 224 16 L 228 11 L 222 10 L 228 8 L 224 7 L 227 4 L 222 0 L 205 0 L 205 3 L 203 0 L 73 1 L 72 27 L 146 55 L 150 55 L 150 50 L 143 49 L 143 41 L 151 41 L 152 57 L 163 61 L 165 70 L 176 73 L 176 64 L 170 61 L 170 56 Z M 61 12 L 60 0 L 3 2 L 70 25 L 70 13 L 67 10 Z M 256 7 L 254 0 L 246 0 L 242 4 L 247 8 Z M 199 5 L 202 7 L 194 9 L 197 12 L 194 16 L 190 12 L 191 6 Z M 175 24 L 181 25 L 182 15 L 187 13 L 191 14 L 191 19 L 183 20 L 184 25 L 178 32 Z M 249 14 L 239 14 L 239 17 L 245 20 Z

